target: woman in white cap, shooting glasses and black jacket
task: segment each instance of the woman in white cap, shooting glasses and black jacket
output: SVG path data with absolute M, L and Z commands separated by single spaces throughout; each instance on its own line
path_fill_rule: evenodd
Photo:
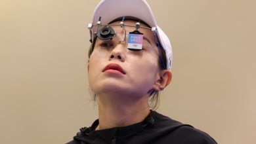
M 101 1 L 89 29 L 88 77 L 98 120 L 68 144 L 216 143 L 204 132 L 150 110 L 171 82 L 172 52 L 146 1 Z

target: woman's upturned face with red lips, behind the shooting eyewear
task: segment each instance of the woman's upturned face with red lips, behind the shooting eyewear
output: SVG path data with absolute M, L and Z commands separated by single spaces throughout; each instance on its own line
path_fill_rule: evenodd
M 125 25 L 135 26 L 135 21 L 125 21 Z M 113 24 L 119 24 L 114 22 Z M 146 27 L 144 24 L 140 26 Z M 159 56 L 154 35 L 150 29 L 140 28 L 144 39 L 142 50 L 127 49 L 120 26 L 113 27 L 116 36 L 112 40 L 96 40 L 95 48 L 89 59 L 88 76 L 93 92 L 98 95 L 117 95 L 142 97 L 154 88 L 159 79 Z M 135 27 L 125 27 L 127 33 Z

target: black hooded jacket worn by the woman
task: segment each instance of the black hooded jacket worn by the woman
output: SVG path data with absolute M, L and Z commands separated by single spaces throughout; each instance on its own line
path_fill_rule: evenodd
M 156 111 L 142 122 L 131 126 L 95 130 L 98 120 L 89 128 L 81 128 L 67 144 L 215 144 L 205 132 L 182 124 Z

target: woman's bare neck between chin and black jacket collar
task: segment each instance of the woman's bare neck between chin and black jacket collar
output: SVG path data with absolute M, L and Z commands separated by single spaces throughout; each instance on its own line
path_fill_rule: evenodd
M 148 96 L 127 101 L 114 96 L 98 96 L 98 130 L 142 122 L 150 113 Z

